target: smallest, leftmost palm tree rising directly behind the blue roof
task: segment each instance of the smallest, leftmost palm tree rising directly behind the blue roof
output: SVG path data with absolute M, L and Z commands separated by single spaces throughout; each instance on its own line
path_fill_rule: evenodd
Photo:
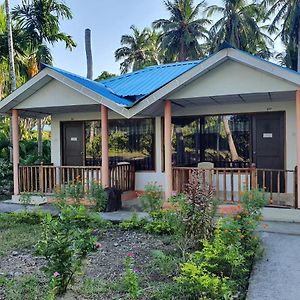
M 150 29 L 144 28 L 140 31 L 134 25 L 130 29 L 133 34 L 122 35 L 121 45 L 123 47 L 115 51 L 116 61 L 123 59 L 120 65 L 122 74 L 127 73 L 130 69 L 132 71 L 142 69 L 153 62 L 151 51 L 149 51 Z

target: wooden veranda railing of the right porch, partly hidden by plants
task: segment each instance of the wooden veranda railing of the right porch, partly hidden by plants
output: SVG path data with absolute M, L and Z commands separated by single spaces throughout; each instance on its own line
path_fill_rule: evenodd
M 194 170 L 199 168 L 174 167 L 173 190 L 184 192 Z M 214 189 L 215 197 L 224 203 L 239 202 L 242 193 L 250 189 L 264 189 L 272 206 L 296 206 L 295 170 L 249 168 L 213 168 L 202 172 L 204 181 Z

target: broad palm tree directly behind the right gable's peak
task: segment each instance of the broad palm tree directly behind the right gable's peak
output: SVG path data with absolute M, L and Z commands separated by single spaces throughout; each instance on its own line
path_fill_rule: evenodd
M 269 58 L 268 45 L 272 40 L 264 33 L 265 27 L 260 26 L 264 17 L 262 7 L 248 4 L 247 0 L 223 0 L 223 3 L 206 9 L 208 17 L 221 15 L 210 29 L 209 51 L 217 51 L 226 41 L 235 48 Z

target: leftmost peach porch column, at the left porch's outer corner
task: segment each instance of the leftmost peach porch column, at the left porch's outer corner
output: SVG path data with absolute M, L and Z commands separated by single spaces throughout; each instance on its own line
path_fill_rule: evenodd
M 16 109 L 12 110 L 12 146 L 13 146 L 13 176 L 14 176 L 14 195 L 19 195 L 19 116 Z

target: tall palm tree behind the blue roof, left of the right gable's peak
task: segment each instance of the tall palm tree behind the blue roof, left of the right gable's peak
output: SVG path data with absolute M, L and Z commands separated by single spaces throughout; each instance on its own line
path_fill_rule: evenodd
M 155 29 L 161 29 L 161 48 L 169 61 L 185 61 L 204 56 L 199 39 L 207 39 L 208 19 L 198 19 L 205 2 L 194 5 L 193 0 L 165 1 L 170 18 L 153 22 Z

